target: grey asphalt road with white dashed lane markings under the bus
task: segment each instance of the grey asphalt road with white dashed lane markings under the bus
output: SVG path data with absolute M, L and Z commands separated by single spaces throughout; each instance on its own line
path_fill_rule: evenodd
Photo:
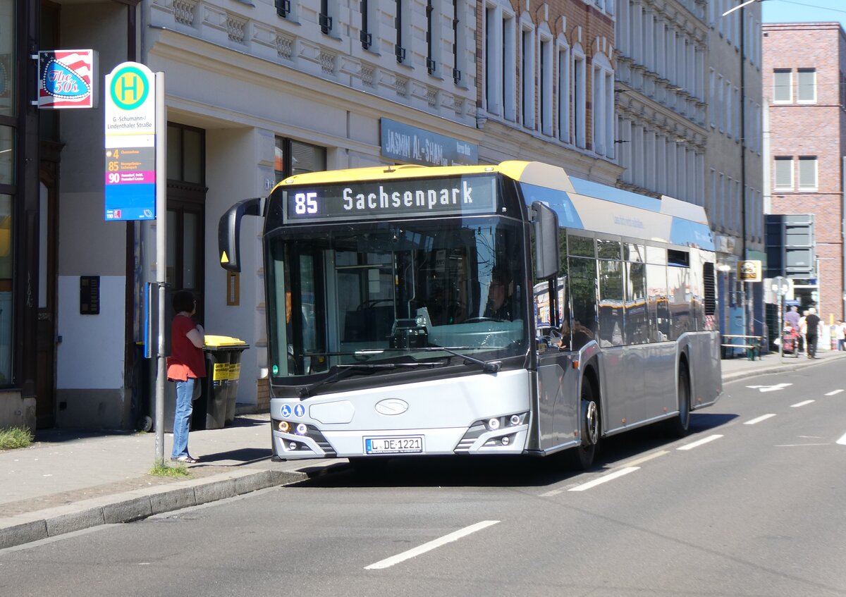
M 556 458 L 338 466 L 0 550 L 0 594 L 846 595 L 842 366 L 728 383 L 692 424 L 612 438 L 583 474 Z

